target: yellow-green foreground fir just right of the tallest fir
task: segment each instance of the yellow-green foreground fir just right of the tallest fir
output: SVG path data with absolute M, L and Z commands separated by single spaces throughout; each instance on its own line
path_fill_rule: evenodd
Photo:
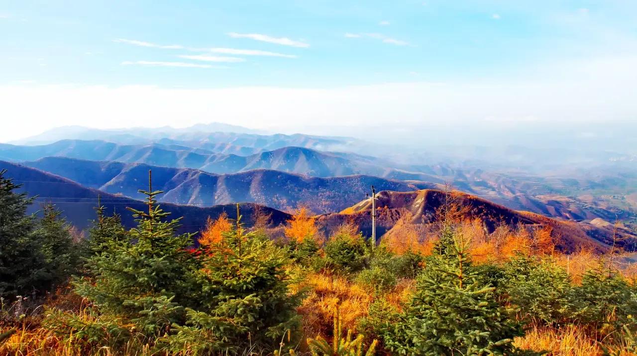
M 187 345 L 204 354 L 250 345 L 271 350 L 286 332 L 299 327 L 296 307 L 301 295 L 290 288 L 295 280 L 284 249 L 246 232 L 238 220 L 204 255 L 204 305 L 187 310 L 188 326 L 176 325 L 170 345 Z

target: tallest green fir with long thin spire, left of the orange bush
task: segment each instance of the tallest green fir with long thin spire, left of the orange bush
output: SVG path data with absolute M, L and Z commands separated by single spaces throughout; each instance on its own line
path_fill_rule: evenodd
M 169 213 L 155 200 L 161 191 L 140 192 L 147 196 L 148 211 L 129 209 L 138 222 L 129 231 L 131 240 L 103 236 L 106 248 L 87 264 L 94 279 L 76 281 L 76 292 L 106 317 L 132 325 L 136 337 L 153 343 L 171 324 L 183 322 L 184 307 L 197 305 L 194 276 L 201 264 L 189 251 L 192 235 L 175 234 L 180 219 L 164 221 Z

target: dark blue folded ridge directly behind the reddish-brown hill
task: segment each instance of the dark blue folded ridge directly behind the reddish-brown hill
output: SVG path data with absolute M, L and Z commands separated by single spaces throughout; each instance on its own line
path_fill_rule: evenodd
M 159 197 L 160 201 L 196 206 L 242 201 L 279 210 L 307 204 L 315 213 L 340 211 L 364 197 L 371 185 L 382 190 L 397 191 L 436 187 L 431 183 L 401 182 L 365 175 L 318 178 L 270 169 L 213 174 L 197 169 L 66 157 L 46 157 L 23 164 L 63 176 L 85 187 L 134 199 L 143 199 L 138 189 L 146 184 L 148 169 L 152 169 L 154 187 L 165 192 Z

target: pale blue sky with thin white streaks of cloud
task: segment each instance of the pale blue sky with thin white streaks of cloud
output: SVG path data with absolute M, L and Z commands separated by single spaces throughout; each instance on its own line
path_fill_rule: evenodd
M 637 120 L 637 2 L 0 0 L 0 141 Z M 619 127 L 621 129 L 621 127 Z

